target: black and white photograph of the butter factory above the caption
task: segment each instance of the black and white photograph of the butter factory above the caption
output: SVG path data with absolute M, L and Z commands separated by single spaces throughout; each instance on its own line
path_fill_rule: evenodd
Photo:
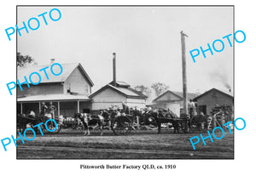
M 234 159 L 234 6 L 24 5 L 17 25 L 18 160 Z

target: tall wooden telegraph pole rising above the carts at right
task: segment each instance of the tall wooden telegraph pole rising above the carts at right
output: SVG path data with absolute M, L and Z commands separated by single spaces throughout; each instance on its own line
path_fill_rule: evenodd
M 188 90 L 187 90 L 187 71 L 186 71 L 186 48 L 185 37 L 188 37 L 183 31 L 180 31 L 181 43 L 182 43 L 182 64 L 183 64 L 183 111 L 185 116 L 188 115 Z M 185 130 L 188 130 L 188 124 L 186 124 Z

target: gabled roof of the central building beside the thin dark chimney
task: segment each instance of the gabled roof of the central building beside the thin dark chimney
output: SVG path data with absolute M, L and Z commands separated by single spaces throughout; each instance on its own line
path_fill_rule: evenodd
M 111 82 L 110 82 L 111 83 Z M 119 87 L 118 83 L 117 83 L 117 87 L 114 87 L 111 84 L 107 84 L 106 86 L 104 86 L 103 88 L 100 88 L 99 90 L 97 90 L 95 93 L 90 94 L 90 99 L 92 99 L 94 96 L 96 96 L 98 93 L 101 93 L 102 91 L 104 91 L 107 88 L 111 88 L 112 90 L 116 91 L 117 93 L 120 93 L 122 95 L 124 95 L 126 98 L 137 98 L 137 99 L 147 99 L 148 97 L 146 95 L 144 95 L 143 93 L 137 92 L 137 90 L 135 90 L 134 88 L 129 88 L 130 85 L 125 83 L 125 85 L 129 85 L 129 87 L 125 86 L 125 87 Z

